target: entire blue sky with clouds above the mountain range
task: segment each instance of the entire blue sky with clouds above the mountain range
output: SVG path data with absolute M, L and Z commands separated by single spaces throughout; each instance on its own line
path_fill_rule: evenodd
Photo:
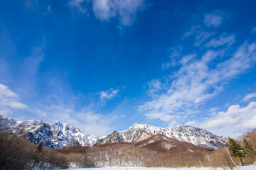
M 256 2 L 4 0 L 0 114 L 88 135 L 256 128 Z

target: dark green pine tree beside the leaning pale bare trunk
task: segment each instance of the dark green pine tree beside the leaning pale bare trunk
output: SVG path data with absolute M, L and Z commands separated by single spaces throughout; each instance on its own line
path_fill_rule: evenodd
M 237 142 L 235 142 L 235 140 L 233 140 L 230 137 L 228 137 L 228 144 L 229 144 L 229 149 L 232 153 L 232 156 L 237 157 L 240 165 L 242 166 L 243 165 L 242 157 L 246 156 L 246 152 L 244 151 L 244 149 L 242 149 L 242 147 Z

